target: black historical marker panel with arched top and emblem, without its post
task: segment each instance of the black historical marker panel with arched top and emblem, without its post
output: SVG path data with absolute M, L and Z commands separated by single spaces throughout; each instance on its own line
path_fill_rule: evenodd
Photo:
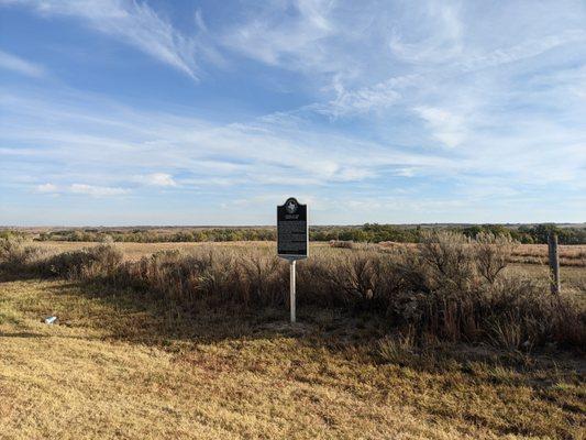
M 308 254 L 307 205 L 290 197 L 277 206 L 277 253 L 285 258 L 306 258 Z

